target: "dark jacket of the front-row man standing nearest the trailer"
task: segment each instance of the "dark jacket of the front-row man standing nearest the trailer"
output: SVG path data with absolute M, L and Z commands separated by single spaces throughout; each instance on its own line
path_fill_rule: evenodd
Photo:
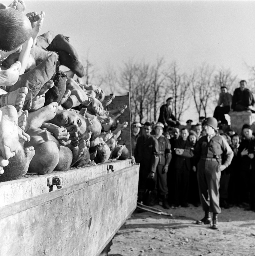
M 147 171 L 156 172 L 158 165 L 158 141 L 152 135 L 139 136 L 134 151 L 135 162 Z

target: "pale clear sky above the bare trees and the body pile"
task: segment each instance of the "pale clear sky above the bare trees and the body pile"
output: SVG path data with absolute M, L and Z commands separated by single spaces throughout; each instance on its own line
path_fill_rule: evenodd
M 164 57 L 183 71 L 206 62 L 248 79 L 245 64 L 255 63 L 255 1 L 25 2 L 26 13 L 45 11 L 42 33 L 69 36 L 101 69 Z

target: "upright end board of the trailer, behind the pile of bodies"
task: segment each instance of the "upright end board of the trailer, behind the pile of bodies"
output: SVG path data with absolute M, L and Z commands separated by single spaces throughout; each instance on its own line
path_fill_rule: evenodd
M 122 124 L 123 122 L 128 122 L 128 126 L 126 129 L 122 130 L 121 141 L 119 144 L 125 144 L 131 154 L 131 111 L 129 93 L 124 96 L 116 96 L 112 103 L 107 107 L 107 109 L 117 109 L 123 105 L 127 105 L 127 109 L 125 109 L 124 113 L 119 116 L 118 120 L 120 124 Z

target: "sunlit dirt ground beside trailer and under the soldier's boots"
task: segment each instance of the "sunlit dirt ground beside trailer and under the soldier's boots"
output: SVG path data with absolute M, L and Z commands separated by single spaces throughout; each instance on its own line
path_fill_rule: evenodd
M 135 211 L 113 238 L 109 256 L 254 256 L 255 212 L 232 207 L 219 214 L 219 230 L 195 224 L 201 207 Z

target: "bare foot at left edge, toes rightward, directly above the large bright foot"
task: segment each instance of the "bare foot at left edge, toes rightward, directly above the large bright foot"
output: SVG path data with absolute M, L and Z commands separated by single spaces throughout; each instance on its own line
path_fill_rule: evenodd
M 17 112 L 22 110 L 24 101 L 28 89 L 26 87 L 21 87 L 15 91 L 8 92 L 0 95 L 0 107 L 12 105 L 16 108 Z

